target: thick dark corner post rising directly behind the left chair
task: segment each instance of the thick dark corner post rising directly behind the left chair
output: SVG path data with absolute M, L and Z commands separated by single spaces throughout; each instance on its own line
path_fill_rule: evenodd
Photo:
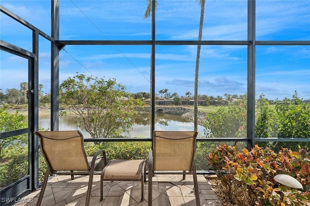
M 51 121 L 52 131 L 59 130 L 59 0 L 51 0 Z

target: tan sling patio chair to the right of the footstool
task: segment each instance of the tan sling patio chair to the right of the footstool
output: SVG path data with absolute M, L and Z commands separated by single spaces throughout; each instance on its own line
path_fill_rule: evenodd
M 148 205 L 152 206 L 152 177 L 154 174 L 192 174 L 196 206 L 200 206 L 194 164 L 196 131 L 154 131 L 153 149 L 149 154 Z

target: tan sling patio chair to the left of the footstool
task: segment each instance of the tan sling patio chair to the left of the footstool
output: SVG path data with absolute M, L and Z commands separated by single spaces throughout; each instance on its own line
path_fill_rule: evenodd
M 84 151 L 83 135 L 78 131 L 35 131 L 40 139 L 42 154 L 47 162 L 47 171 L 40 191 L 37 206 L 42 203 L 49 174 L 89 174 L 88 190 L 85 206 L 89 206 L 93 185 L 93 173 L 96 165 L 104 159 L 106 154 L 98 151 L 93 157 L 87 157 Z M 102 157 L 97 157 L 102 153 Z

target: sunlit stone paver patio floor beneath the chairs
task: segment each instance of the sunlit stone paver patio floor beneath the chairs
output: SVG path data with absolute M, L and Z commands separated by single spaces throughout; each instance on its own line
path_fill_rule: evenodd
M 202 206 L 222 206 L 211 185 L 203 175 L 197 175 Z M 148 181 L 148 178 L 146 179 Z M 52 177 L 47 184 L 42 206 L 84 206 L 88 176 Z M 104 182 L 104 200 L 100 201 L 100 175 L 94 175 L 90 206 L 147 206 L 148 188 L 144 183 L 144 201 L 140 202 L 139 181 Z M 36 204 L 40 190 L 24 197 L 16 206 Z M 28 202 L 28 203 L 25 203 Z M 192 175 L 157 175 L 153 177 L 153 206 L 195 206 Z

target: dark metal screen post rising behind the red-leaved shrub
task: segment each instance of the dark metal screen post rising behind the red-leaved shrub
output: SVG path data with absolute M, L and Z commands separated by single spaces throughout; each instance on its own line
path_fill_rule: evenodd
M 254 146 L 255 141 L 255 0 L 248 0 L 248 115 L 247 137 L 248 150 Z

